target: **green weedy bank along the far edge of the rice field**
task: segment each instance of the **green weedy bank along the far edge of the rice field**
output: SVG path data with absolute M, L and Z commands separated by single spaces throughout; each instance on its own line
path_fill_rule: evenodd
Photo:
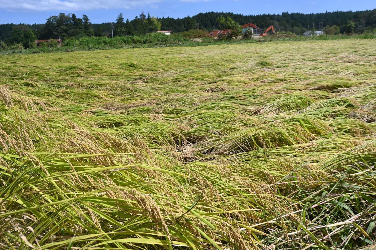
M 24 49 L 21 45 L 13 45 L 0 48 L 0 54 L 37 54 L 51 52 L 72 52 L 72 51 L 94 51 L 105 49 L 130 49 L 130 48 L 163 48 L 171 46 L 208 46 L 220 44 L 238 44 L 255 42 L 275 41 L 312 41 L 312 40 L 347 40 L 347 39 L 375 39 L 376 34 L 354 34 L 333 35 L 333 36 L 294 36 L 284 34 L 271 34 L 267 37 L 252 37 L 241 40 L 216 39 L 213 37 L 201 37 L 202 42 L 194 42 L 191 38 L 184 38 L 180 34 L 167 36 L 165 34 L 150 33 L 144 36 L 122 36 L 122 37 L 83 37 L 81 39 L 64 40 L 63 46 L 57 47 L 45 44 L 42 47 Z M 0 43 L 1 44 L 1 43 Z M 0 46 L 1 47 L 1 46 Z

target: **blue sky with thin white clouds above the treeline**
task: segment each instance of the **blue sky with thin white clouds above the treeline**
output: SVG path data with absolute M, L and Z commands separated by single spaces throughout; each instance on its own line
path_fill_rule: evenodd
M 376 8 L 375 0 L 0 0 L 0 24 L 45 23 L 60 12 L 86 14 L 91 22 L 112 22 L 122 12 L 133 19 L 142 10 L 152 16 L 174 18 L 193 16 L 200 12 L 262 13 L 318 13 L 336 10 L 366 10 Z

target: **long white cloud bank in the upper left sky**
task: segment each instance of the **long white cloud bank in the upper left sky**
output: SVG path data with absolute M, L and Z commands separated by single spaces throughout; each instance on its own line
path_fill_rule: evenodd
M 162 0 L 0 0 L 0 9 L 5 10 L 94 10 L 132 9 L 156 4 Z

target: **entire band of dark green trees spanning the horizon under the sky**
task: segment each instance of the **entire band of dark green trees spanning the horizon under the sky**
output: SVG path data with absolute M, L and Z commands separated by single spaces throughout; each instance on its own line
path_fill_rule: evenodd
M 13 45 L 22 44 L 25 48 L 35 46 L 35 39 L 62 39 L 82 37 L 111 37 L 114 36 L 141 36 L 156 30 L 172 30 L 179 33 L 192 29 L 206 31 L 219 28 L 218 16 L 230 17 L 239 24 L 253 22 L 260 28 L 274 25 L 277 31 L 285 31 L 302 34 L 307 30 L 321 30 L 325 27 L 336 28 L 336 33 L 357 33 L 374 32 L 376 28 L 376 9 L 364 11 L 336 11 L 326 13 L 288 13 L 263 14 L 263 15 L 242 15 L 229 12 L 207 12 L 185 18 L 156 18 L 142 12 L 132 20 L 124 20 L 120 13 L 114 22 L 103 24 L 92 24 L 87 15 L 82 18 L 75 14 L 60 13 L 50 16 L 45 24 L 1 24 L 0 25 L 0 47 L 1 44 Z M 113 32 L 112 32 L 113 26 Z M 328 30 L 328 29 L 327 29 Z

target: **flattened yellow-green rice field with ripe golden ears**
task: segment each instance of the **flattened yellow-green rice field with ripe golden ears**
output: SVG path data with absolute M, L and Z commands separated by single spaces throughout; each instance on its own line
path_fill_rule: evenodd
M 374 249 L 376 39 L 0 55 L 0 249 Z

